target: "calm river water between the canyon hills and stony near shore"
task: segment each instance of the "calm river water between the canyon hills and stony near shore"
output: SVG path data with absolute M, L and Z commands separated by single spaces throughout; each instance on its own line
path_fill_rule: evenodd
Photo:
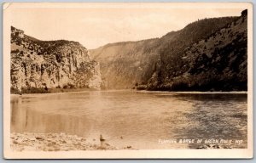
M 66 132 L 113 146 L 188 149 L 179 138 L 242 139 L 247 147 L 247 94 L 132 91 L 30 94 L 11 98 L 11 132 Z

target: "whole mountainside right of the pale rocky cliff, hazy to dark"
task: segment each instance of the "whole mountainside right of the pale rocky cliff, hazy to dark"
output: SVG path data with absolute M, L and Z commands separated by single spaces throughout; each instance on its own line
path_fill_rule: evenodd
M 247 90 L 247 11 L 198 20 L 164 37 L 91 50 L 107 88 Z

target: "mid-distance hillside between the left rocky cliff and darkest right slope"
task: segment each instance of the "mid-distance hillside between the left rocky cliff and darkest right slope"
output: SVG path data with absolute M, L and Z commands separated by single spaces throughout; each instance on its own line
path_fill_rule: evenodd
M 111 43 L 89 52 L 101 63 L 102 79 L 107 88 L 172 90 L 174 78 L 183 76 L 189 69 L 183 59 L 184 50 L 238 19 L 198 20 L 160 38 Z

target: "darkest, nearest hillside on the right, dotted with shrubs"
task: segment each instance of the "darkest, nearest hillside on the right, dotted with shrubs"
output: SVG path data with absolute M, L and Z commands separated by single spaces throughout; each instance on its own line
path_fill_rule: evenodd
M 247 10 L 238 19 L 204 36 L 195 37 L 188 46 L 161 49 L 160 68 L 154 72 L 147 88 L 169 91 L 247 90 Z M 178 41 L 183 44 L 187 39 Z

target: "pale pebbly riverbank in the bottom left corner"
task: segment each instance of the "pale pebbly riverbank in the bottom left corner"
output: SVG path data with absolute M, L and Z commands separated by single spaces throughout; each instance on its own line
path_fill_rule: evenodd
M 11 149 L 15 151 L 115 150 L 108 143 L 89 143 L 85 138 L 65 133 L 11 133 Z M 122 149 L 131 149 L 131 146 Z

